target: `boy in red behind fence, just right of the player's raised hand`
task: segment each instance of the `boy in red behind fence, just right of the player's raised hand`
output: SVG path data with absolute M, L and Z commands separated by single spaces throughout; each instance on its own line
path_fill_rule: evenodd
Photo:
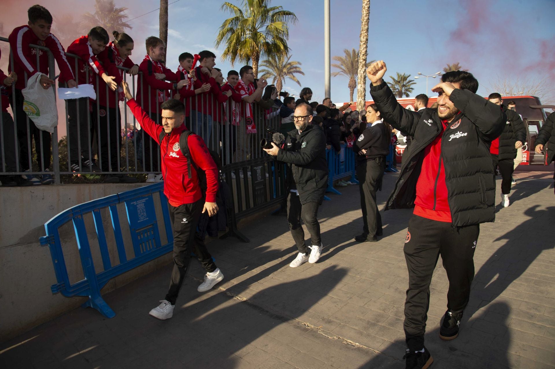
M 137 102 L 147 111 L 148 115 L 157 124 L 162 124 L 160 114 L 162 103 L 170 98 L 171 90 L 179 90 L 185 85 L 185 81 L 179 83 L 166 82 L 176 81 L 177 75 L 162 64 L 166 57 L 166 45 L 158 37 L 150 36 L 145 40 L 147 55 L 139 65 L 139 76 L 137 85 Z M 153 172 L 158 168 L 158 156 L 156 155 L 155 144 L 150 137 L 139 135 L 143 143 L 143 153 L 139 153 L 139 158 L 143 163 L 145 172 Z M 158 168 L 159 170 L 159 168 Z M 155 182 L 153 173 L 147 176 L 147 182 Z

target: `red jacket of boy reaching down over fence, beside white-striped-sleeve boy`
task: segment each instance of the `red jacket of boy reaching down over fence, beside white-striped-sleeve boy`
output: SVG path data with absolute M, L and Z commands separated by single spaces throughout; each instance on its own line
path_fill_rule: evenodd
M 77 79 L 75 79 L 75 81 L 77 82 L 78 85 L 83 85 L 83 84 L 95 85 L 96 78 L 94 77 L 94 75 L 98 74 L 98 78 L 100 78 L 100 76 L 103 73 L 106 73 L 106 71 L 104 70 L 104 68 L 102 68 L 102 65 L 100 64 L 100 61 L 98 61 L 97 57 L 94 55 L 93 49 L 89 45 L 88 35 L 81 36 L 77 40 L 72 42 L 72 44 L 69 45 L 68 47 L 68 53 L 75 54 L 79 58 L 83 59 L 83 60 L 77 59 L 78 70 L 76 71 L 75 58 L 69 57 L 69 61 L 70 61 L 69 64 L 71 65 L 73 73 L 77 75 Z M 88 74 L 89 74 L 88 79 L 87 79 L 87 71 L 85 70 L 85 66 L 87 65 L 90 66 L 88 71 Z M 63 78 L 63 76 L 60 76 L 60 83 L 67 82 L 67 81 L 68 80 Z

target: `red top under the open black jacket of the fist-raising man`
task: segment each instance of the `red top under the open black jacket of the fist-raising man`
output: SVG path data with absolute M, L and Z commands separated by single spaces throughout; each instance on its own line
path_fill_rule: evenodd
M 434 221 L 451 223 L 451 209 L 447 202 L 445 167 L 441 160 L 441 137 L 447 121 L 442 121 L 440 134 L 424 149 L 422 170 L 416 182 L 414 214 Z

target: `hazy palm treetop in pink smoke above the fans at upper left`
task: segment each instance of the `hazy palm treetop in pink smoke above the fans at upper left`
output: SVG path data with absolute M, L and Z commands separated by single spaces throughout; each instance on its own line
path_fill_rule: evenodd
M 87 30 L 97 27 L 103 27 L 111 35 L 114 30 L 122 32 L 124 28 L 133 28 L 129 23 L 125 22 L 128 8 L 116 8 L 112 0 L 95 0 L 94 14 L 89 12 L 81 16 L 81 26 Z

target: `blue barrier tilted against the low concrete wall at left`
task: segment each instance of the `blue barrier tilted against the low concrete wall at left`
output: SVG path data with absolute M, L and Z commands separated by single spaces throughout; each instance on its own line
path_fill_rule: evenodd
M 164 219 L 166 239 L 168 243 L 160 242 L 158 231 L 158 220 L 154 209 L 153 195 L 158 193 L 162 204 L 162 216 Z M 125 253 L 122 228 L 120 227 L 117 205 L 125 204 L 127 211 L 127 223 L 131 235 L 134 257 L 129 258 Z M 112 265 L 104 233 L 101 209 L 108 208 L 112 222 L 115 244 L 118 252 L 119 264 Z M 92 214 L 95 230 L 102 257 L 104 270 L 97 273 L 90 250 L 89 237 L 83 217 Z M 84 279 L 71 284 L 69 281 L 67 267 L 60 241 L 59 227 L 72 221 L 79 249 L 79 257 L 83 268 Z M 94 307 L 105 317 L 114 317 L 115 312 L 102 299 L 100 290 L 108 281 L 120 274 L 125 273 L 139 265 L 145 264 L 170 252 L 173 249 L 173 233 L 171 230 L 168 200 L 164 196 L 164 183 L 156 183 L 150 186 L 140 187 L 111 196 L 85 202 L 69 208 L 44 224 L 46 236 L 41 237 L 41 245 L 48 245 L 52 255 L 54 271 L 56 271 L 57 284 L 52 285 L 52 293 L 62 293 L 66 297 L 88 296 L 89 300 L 83 307 Z

